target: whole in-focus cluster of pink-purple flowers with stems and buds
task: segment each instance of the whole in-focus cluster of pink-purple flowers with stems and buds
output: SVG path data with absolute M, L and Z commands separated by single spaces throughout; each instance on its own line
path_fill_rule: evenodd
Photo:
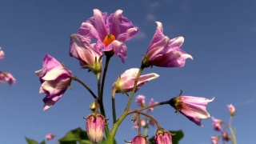
M 102 142 L 104 131 L 106 133 L 106 143 L 113 143 L 115 134 L 122 121 L 129 114 L 134 114 L 134 128 L 138 129 L 138 135 L 135 136 L 131 143 L 148 143 L 146 134 L 141 133 L 141 127 L 157 126 L 154 136 L 156 143 L 172 143 L 172 134 L 160 126 L 156 118 L 150 113 L 156 106 L 170 105 L 176 110 L 176 113 L 183 114 L 191 122 L 198 126 L 202 126 L 203 118 L 210 118 L 210 114 L 206 110 L 208 102 L 214 101 L 214 98 L 198 98 L 194 96 L 183 96 L 182 93 L 175 98 L 168 98 L 165 102 L 155 102 L 152 98 L 150 104 L 146 106 L 145 96 L 138 95 L 135 102 L 139 109 L 130 110 L 134 93 L 137 92 L 146 82 L 150 82 L 159 75 L 155 73 L 142 74 L 147 67 L 182 67 L 185 66 L 186 59 L 193 57 L 182 50 L 184 38 L 169 38 L 163 33 L 161 22 L 156 22 L 156 30 L 154 36 L 143 54 L 140 68 L 130 68 L 125 70 L 112 87 L 112 118 L 113 127 L 110 130 L 107 125 L 107 118 L 104 107 L 104 83 L 106 72 L 110 58 L 114 55 L 118 56 L 122 63 L 128 57 L 128 48 L 125 42 L 134 38 L 138 34 L 138 27 L 126 17 L 122 16 L 122 10 L 116 10 L 114 14 L 108 15 L 100 10 L 94 9 L 94 15 L 88 18 L 86 22 L 82 22 L 82 26 L 78 28 L 76 34 L 70 35 L 70 57 L 76 58 L 82 69 L 87 69 L 97 75 L 98 94 L 94 94 L 93 90 L 77 77 L 72 76 L 72 72 L 67 70 L 64 64 L 58 62 L 55 58 L 46 54 L 42 62 L 42 69 L 35 71 L 38 74 L 41 83 L 39 93 L 46 94 L 43 98 L 43 110 L 48 110 L 54 106 L 62 95 L 66 92 L 71 81 L 82 84 L 93 96 L 94 102 L 90 106 L 92 114 L 86 117 L 86 132 L 91 142 Z M 95 42 L 91 40 L 94 39 Z M 103 69 L 102 61 L 106 64 Z M 117 67 L 117 66 L 116 66 Z M 130 93 L 131 92 L 131 93 Z M 125 111 L 117 118 L 115 112 L 115 94 L 122 93 L 129 96 Z M 130 94 L 128 94 L 130 93 Z M 170 97 L 170 96 L 168 96 Z M 141 118 L 141 115 L 144 118 Z M 136 124 L 137 122 L 137 124 Z M 112 141 L 112 142 L 111 142 Z

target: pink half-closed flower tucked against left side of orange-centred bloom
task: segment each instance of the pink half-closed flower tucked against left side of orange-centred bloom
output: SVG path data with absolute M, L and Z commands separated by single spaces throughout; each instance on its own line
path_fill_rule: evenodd
M 102 71 L 102 52 L 96 43 L 91 44 L 90 38 L 78 34 L 70 36 L 70 56 L 77 58 L 83 68 L 97 74 Z

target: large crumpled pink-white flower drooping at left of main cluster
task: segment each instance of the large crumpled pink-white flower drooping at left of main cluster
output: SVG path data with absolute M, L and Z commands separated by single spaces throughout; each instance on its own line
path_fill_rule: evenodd
M 42 70 L 35 71 L 35 74 L 38 74 L 42 84 L 39 94 L 46 94 L 42 100 L 45 103 L 43 106 L 45 111 L 62 98 L 67 87 L 70 86 L 72 71 L 66 70 L 60 62 L 49 54 L 43 58 L 42 65 Z

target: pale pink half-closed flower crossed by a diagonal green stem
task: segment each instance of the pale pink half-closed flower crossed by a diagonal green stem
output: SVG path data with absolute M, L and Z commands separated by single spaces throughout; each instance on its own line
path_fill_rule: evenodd
M 118 76 L 117 82 L 114 82 L 113 89 L 115 88 L 117 93 L 130 92 L 134 88 L 134 82 L 138 74 L 138 68 L 131 68 L 126 70 L 121 76 Z M 155 73 L 141 75 L 138 78 L 137 89 L 144 85 L 146 82 L 158 78 L 159 75 Z

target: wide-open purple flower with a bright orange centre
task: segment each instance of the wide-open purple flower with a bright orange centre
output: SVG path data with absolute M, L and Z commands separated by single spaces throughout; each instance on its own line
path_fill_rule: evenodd
M 138 33 L 138 27 L 126 17 L 122 16 L 122 10 L 116 10 L 114 14 L 107 16 L 98 9 L 94 9 L 94 16 L 82 22 L 78 34 L 96 39 L 101 45 L 102 51 L 110 51 L 125 62 L 127 47 L 124 42 L 129 41 Z

